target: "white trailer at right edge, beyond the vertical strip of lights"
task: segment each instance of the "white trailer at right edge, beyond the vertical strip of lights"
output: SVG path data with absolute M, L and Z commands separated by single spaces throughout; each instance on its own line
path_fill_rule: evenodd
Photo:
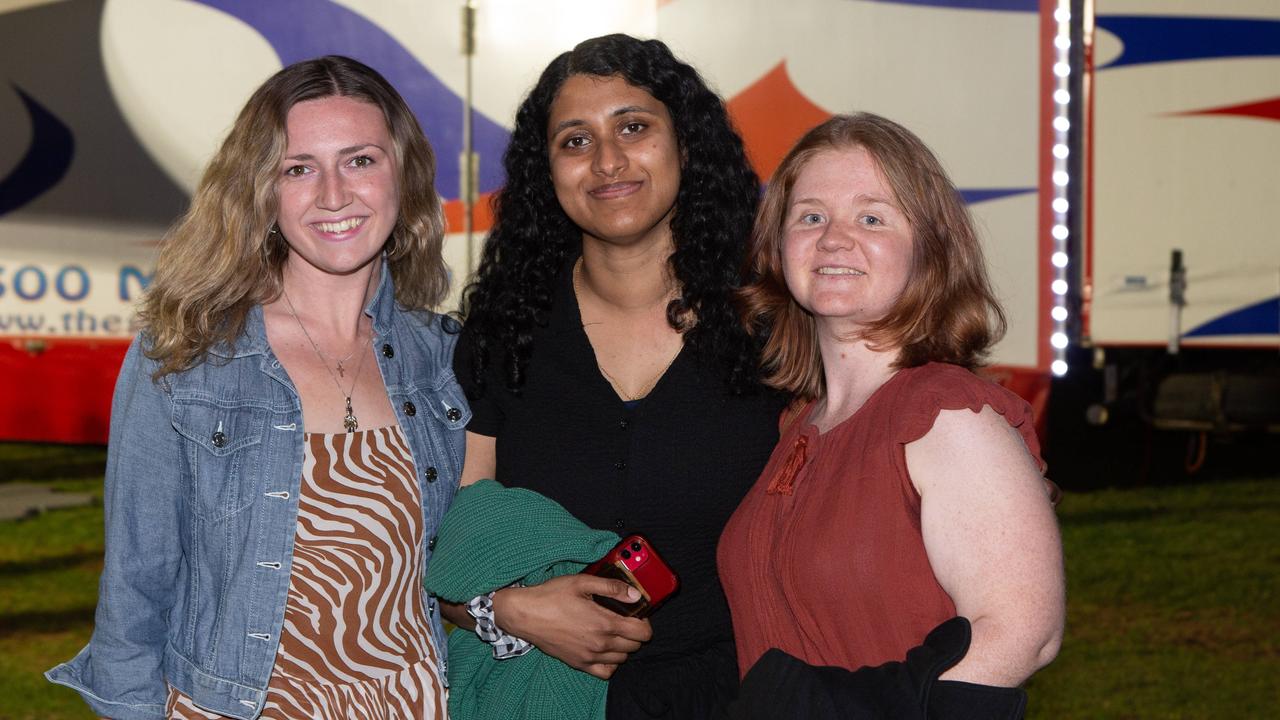
M 1082 10 L 1079 161 L 1059 169 L 1083 178 L 1064 193 L 1083 242 L 1048 258 L 1051 291 L 1066 300 L 1050 338 L 1070 363 L 1053 415 L 1093 428 L 1057 457 L 1084 474 L 1151 477 L 1194 473 L 1216 448 L 1275 468 L 1280 5 Z

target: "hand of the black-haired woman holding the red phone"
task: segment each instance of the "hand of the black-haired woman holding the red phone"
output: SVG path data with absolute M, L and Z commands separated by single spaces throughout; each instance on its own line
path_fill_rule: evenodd
M 635 602 L 640 593 L 622 580 L 562 575 L 531 587 L 503 588 L 493 596 L 498 626 L 582 673 L 609 679 L 627 656 L 653 637 L 649 620 L 626 618 L 591 600 L 593 594 Z

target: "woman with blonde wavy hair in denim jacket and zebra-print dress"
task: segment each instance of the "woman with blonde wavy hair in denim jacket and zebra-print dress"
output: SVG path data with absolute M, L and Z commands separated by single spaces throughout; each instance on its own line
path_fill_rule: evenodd
M 435 160 L 340 56 L 248 100 L 161 243 L 116 386 L 93 637 L 49 679 L 100 715 L 443 717 L 421 589 L 470 416 Z

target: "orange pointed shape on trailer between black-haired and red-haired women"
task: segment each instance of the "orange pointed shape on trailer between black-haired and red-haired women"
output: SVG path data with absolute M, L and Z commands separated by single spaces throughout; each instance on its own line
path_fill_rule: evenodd
M 762 181 L 769 179 L 801 135 L 832 115 L 796 90 L 786 60 L 735 95 L 728 114 Z

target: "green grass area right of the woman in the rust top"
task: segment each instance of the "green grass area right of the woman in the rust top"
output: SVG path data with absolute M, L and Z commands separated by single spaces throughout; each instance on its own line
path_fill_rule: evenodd
M 1266 717 L 1280 701 L 1280 478 L 1068 495 L 1068 625 L 1033 717 Z

